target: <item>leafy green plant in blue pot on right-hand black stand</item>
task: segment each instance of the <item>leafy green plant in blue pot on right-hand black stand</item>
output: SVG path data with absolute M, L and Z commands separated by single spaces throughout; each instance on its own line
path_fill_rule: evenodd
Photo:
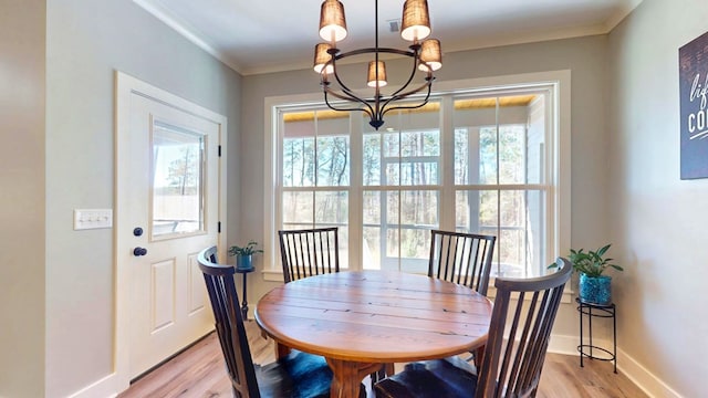
M 580 274 L 580 300 L 585 303 L 607 305 L 612 303 L 612 276 L 605 275 L 607 268 L 617 271 L 624 269 L 613 264 L 613 259 L 605 256 L 612 244 L 606 244 L 597 250 L 571 249 L 568 260 L 573 264 L 573 270 Z M 556 266 L 551 264 L 550 268 Z

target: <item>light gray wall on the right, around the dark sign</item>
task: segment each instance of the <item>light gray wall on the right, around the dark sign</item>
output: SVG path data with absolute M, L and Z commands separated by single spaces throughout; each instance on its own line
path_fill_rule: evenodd
M 618 344 L 684 397 L 706 395 L 708 180 L 679 178 L 678 48 L 707 21 L 705 0 L 644 0 L 608 39 Z

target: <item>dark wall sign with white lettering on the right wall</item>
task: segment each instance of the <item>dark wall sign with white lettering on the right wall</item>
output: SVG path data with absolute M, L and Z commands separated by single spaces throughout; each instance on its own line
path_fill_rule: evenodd
M 708 177 L 708 32 L 678 49 L 681 179 Z

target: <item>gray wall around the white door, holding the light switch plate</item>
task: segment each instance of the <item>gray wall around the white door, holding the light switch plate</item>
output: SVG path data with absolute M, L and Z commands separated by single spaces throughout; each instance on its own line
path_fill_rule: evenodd
M 46 38 L 46 395 L 61 397 L 113 370 L 113 230 L 74 231 L 72 212 L 113 208 L 115 71 L 227 116 L 229 155 L 241 77 L 129 0 L 48 1 Z

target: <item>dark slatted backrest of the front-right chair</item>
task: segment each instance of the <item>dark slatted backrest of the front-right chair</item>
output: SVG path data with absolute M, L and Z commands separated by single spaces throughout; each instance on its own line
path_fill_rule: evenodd
M 566 259 L 559 258 L 556 264 L 555 273 L 541 277 L 496 279 L 476 398 L 535 395 L 563 289 L 573 271 Z

